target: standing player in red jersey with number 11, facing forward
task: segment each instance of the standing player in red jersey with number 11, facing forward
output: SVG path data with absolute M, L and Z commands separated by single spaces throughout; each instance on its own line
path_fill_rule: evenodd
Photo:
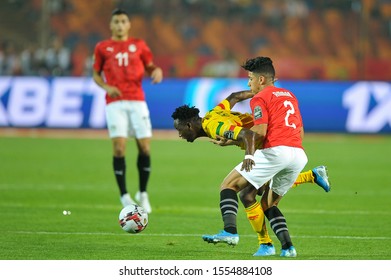
M 126 188 L 126 142 L 136 139 L 139 191 L 136 200 L 151 213 L 147 193 L 150 175 L 152 126 L 142 89 L 145 72 L 152 83 L 163 79 L 161 68 L 153 63 L 153 54 L 141 39 L 129 37 L 131 24 L 126 11 L 116 9 L 110 21 L 111 38 L 95 46 L 93 79 L 106 91 L 106 121 L 113 144 L 113 169 L 123 206 L 135 204 Z

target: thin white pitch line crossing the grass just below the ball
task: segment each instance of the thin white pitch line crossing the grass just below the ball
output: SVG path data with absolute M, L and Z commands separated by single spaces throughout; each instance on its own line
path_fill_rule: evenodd
M 25 235 L 97 235 L 97 236 L 157 236 L 157 237 L 201 237 L 203 234 L 186 234 L 186 233 L 112 233 L 112 232 L 56 232 L 56 231 L 3 231 L 10 234 Z M 254 238 L 254 235 L 243 234 L 240 237 Z M 301 239 L 352 239 L 352 240 L 391 240 L 390 236 L 336 236 L 336 235 L 292 235 L 294 238 Z

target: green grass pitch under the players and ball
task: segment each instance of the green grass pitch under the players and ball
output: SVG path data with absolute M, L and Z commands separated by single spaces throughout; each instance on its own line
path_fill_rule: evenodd
M 328 165 L 333 189 L 306 184 L 281 201 L 297 259 L 390 260 L 391 137 L 308 135 L 304 145 L 306 169 Z M 131 235 L 117 222 L 109 140 L 0 138 L 0 146 L 2 260 L 254 259 L 257 240 L 243 207 L 238 246 L 201 239 L 221 229 L 219 183 L 243 158 L 235 147 L 154 140 L 153 213 L 146 230 Z M 130 140 L 132 193 L 135 148 Z

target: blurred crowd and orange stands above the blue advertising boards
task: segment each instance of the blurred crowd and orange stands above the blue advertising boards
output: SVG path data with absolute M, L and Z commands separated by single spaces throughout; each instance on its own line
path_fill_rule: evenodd
M 241 63 L 262 55 L 279 78 L 391 80 L 390 0 L 6 1 L 0 75 L 91 75 L 121 6 L 166 77 L 240 77 Z

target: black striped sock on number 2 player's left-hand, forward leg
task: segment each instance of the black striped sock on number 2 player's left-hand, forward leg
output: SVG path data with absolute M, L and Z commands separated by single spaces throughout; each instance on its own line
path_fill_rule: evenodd
M 238 196 L 234 190 L 224 189 L 220 192 L 220 210 L 226 232 L 238 233 L 236 228 L 238 206 Z

